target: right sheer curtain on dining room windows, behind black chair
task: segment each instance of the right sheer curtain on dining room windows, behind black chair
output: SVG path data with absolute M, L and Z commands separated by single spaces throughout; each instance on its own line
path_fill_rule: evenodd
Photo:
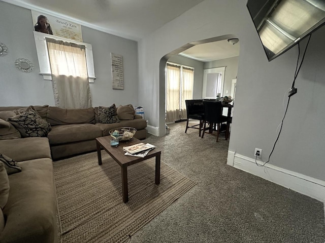
M 181 119 L 186 119 L 185 100 L 193 99 L 194 70 L 186 67 L 182 68 L 182 90 L 181 90 Z

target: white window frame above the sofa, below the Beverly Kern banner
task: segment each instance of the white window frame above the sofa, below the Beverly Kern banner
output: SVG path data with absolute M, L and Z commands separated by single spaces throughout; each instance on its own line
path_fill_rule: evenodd
M 52 80 L 50 59 L 47 51 L 45 37 L 57 39 L 63 42 L 71 42 L 78 45 L 84 45 L 86 47 L 86 63 L 87 63 L 87 71 L 88 71 L 88 80 L 89 83 L 94 83 L 94 79 L 96 77 L 95 77 L 95 69 L 93 65 L 92 46 L 90 44 L 77 42 L 74 41 L 73 39 L 67 39 L 67 38 L 63 38 L 51 34 L 45 34 L 42 32 L 34 31 L 37 57 L 39 59 L 39 65 L 40 65 L 40 74 L 43 75 L 44 80 Z

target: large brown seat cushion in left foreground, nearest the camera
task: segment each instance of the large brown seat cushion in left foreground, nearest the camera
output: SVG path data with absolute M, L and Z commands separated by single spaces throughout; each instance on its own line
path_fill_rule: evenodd
M 9 177 L 0 242 L 55 242 L 56 194 L 50 158 L 19 162 L 24 170 Z

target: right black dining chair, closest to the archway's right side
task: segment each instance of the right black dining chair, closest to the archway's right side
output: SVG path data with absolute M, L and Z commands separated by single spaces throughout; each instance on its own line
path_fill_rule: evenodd
M 222 125 L 223 123 L 226 123 L 228 121 L 227 116 L 222 115 L 222 107 L 221 107 L 221 101 L 209 101 L 204 100 L 203 101 L 204 106 L 204 121 L 203 121 L 203 133 L 202 138 L 204 137 L 205 133 L 214 135 L 217 137 L 217 141 L 219 139 L 219 134 L 221 132 L 226 133 L 226 125 Z M 209 125 L 209 132 L 206 132 L 206 125 Z M 213 133 L 216 131 L 216 133 Z

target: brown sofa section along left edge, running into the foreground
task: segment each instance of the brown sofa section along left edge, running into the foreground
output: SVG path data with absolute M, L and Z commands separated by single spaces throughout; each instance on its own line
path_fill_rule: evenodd
M 0 242 L 57 242 L 56 193 L 48 139 L 0 140 L 0 153 L 22 168 L 8 176 L 8 201 L 0 208 Z

